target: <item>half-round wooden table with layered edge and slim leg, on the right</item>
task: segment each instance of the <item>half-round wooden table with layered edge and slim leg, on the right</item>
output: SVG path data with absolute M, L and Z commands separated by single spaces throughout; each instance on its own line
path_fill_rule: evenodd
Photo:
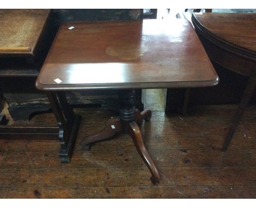
M 255 90 L 256 14 L 193 14 L 192 22 L 213 62 L 248 77 L 240 105 L 223 144 L 222 150 L 226 151 Z

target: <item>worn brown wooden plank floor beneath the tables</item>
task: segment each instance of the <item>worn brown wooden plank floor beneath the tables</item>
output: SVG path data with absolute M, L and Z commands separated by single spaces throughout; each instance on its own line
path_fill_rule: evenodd
M 152 105 L 159 98 L 149 94 L 145 103 Z M 83 136 L 101 129 L 115 114 L 86 108 L 75 109 L 83 119 L 69 164 L 60 163 L 58 140 L 0 139 L 0 198 L 256 197 L 255 106 L 246 109 L 226 152 L 220 149 L 236 106 L 197 106 L 187 116 L 170 117 L 161 106 L 153 109 L 152 120 L 141 128 L 161 174 L 158 186 L 150 182 L 129 136 L 114 136 L 90 151 L 80 149 Z M 54 122 L 52 114 L 33 121 L 46 119 Z

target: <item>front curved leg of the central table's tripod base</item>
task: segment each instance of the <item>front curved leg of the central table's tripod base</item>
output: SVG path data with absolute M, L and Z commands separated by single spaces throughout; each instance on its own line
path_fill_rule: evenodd
M 142 139 L 141 130 L 139 129 L 135 121 L 129 124 L 129 133 L 132 137 L 133 143 L 136 146 L 136 149 L 139 152 L 139 155 L 141 155 L 143 161 L 146 163 L 150 173 L 152 174 L 152 177 L 150 178 L 152 183 L 158 184 L 160 180 L 160 175 L 155 167 L 152 158 L 148 154 L 148 151 Z

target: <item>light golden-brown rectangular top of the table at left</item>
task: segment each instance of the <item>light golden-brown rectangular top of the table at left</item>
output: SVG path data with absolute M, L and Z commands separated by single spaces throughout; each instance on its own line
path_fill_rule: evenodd
M 50 9 L 0 9 L 0 55 L 33 56 Z

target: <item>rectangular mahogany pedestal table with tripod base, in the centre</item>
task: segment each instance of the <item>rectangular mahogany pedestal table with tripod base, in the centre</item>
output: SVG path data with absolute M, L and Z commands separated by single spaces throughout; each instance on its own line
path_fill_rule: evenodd
M 199 38 L 187 20 L 95 21 L 65 23 L 59 29 L 38 76 L 36 87 L 45 90 L 59 125 L 68 119 L 67 102 L 57 99 L 66 90 L 119 89 L 119 117 L 80 143 L 129 133 L 152 174 L 160 175 L 150 158 L 137 124 L 150 120 L 149 109 L 135 109 L 135 90 L 142 88 L 205 87 L 218 76 Z M 63 93 L 61 93 L 63 98 Z M 63 113 L 62 113 L 63 112 Z M 66 116 L 66 115 L 67 116 Z

